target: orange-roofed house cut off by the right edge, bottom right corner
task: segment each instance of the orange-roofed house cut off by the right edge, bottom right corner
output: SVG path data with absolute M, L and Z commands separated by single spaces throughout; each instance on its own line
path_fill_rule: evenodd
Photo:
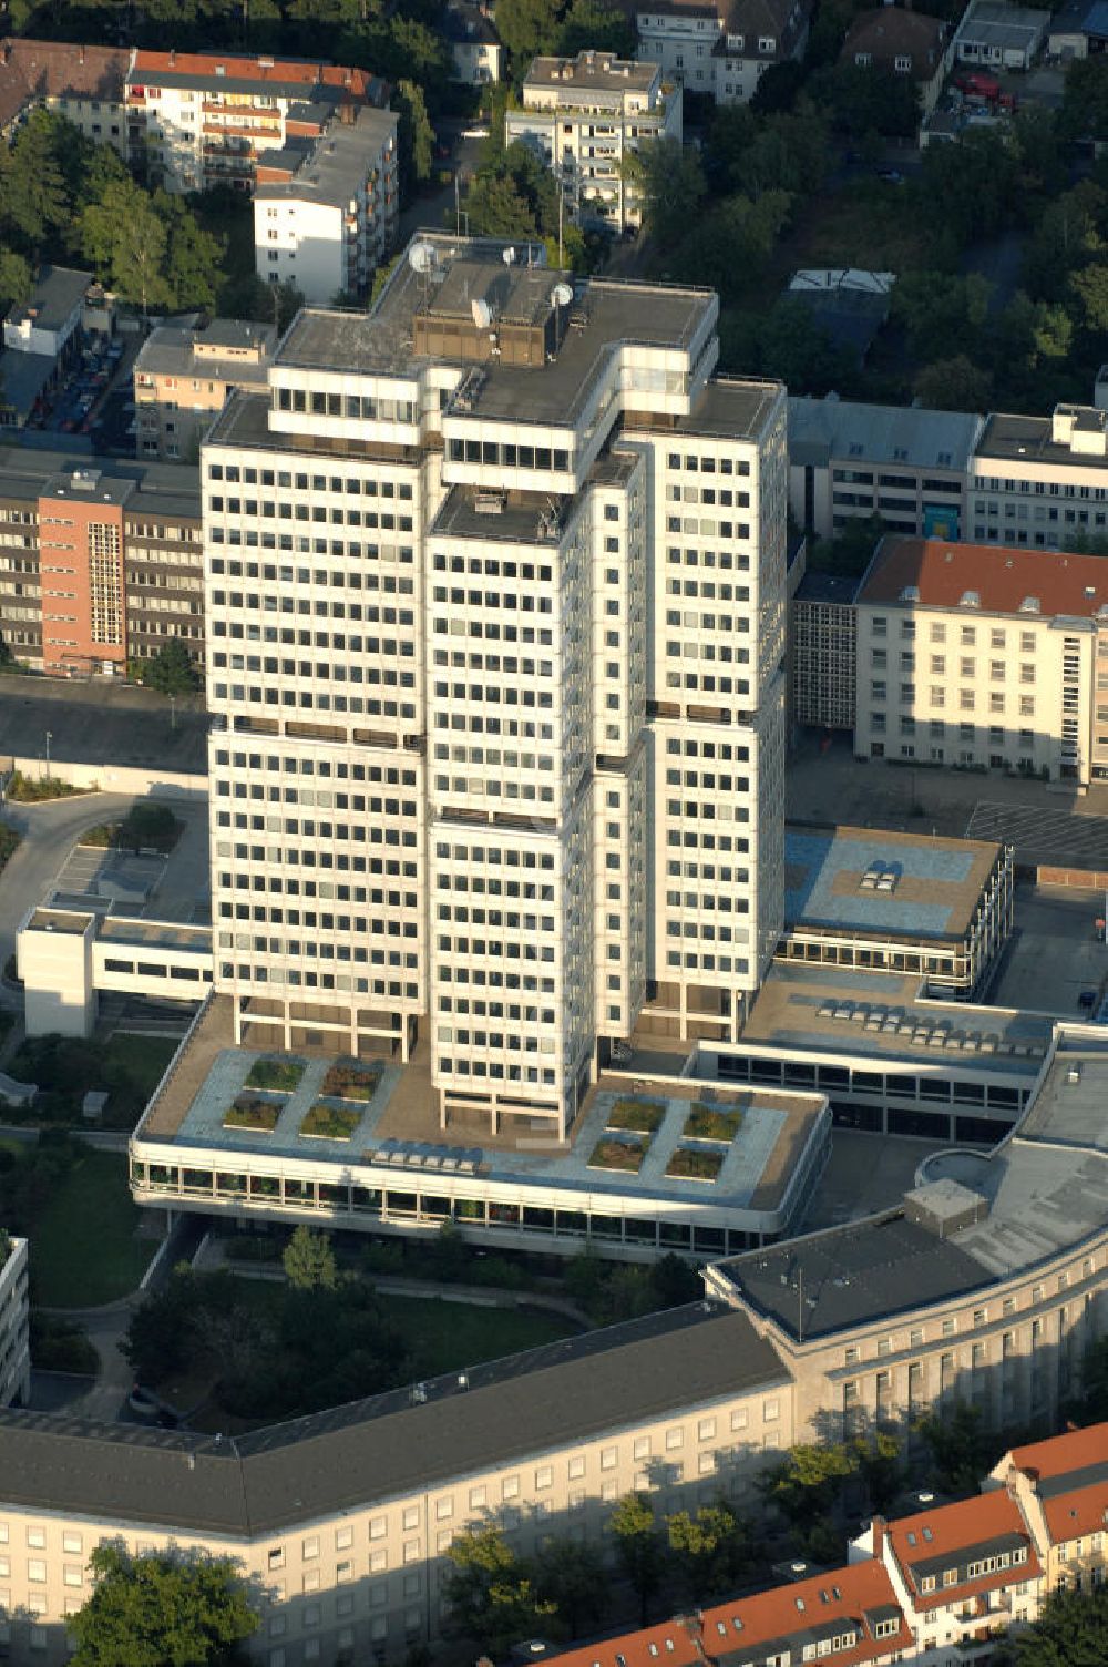
M 1035 1522 L 1048 1590 L 1108 1579 L 1108 1424 L 1013 1447 L 985 1487 L 1013 1490 Z

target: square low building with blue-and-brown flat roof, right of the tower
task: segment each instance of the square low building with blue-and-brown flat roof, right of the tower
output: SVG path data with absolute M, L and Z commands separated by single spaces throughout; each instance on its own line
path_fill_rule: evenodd
M 778 959 L 915 974 L 970 999 L 1011 930 L 1011 850 L 888 828 L 785 830 Z

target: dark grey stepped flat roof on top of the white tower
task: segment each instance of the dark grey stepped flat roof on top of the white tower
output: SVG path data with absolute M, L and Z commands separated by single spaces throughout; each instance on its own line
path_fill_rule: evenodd
M 370 313 L 305 308 L 288 330 L 278 365 L 405 377 L 412 373 L 417 313 L 467 318 L 477 300 L 490 300 L 505 318 L 540 317 L 550 310 L 558 282 L 575 290 L 570 327 L 553 360 L 525 367 L 497 360 L 482 363 L 480 390 L 467 410 L 477 417 L 570 425 L 588 397 L 603 358 L 620 342 L 691 352 L 715 323 L 713 290 L 665 283 L 571 280 L 538 263 L 537 245 L 502 238 L 452 238 L 420 233 L 435 252 L 433 272 L 420 273 L 400 260 Z M 510 310 L 508 310 L 510 308 Z M 473 367 L 472 358 L 458 365 Z

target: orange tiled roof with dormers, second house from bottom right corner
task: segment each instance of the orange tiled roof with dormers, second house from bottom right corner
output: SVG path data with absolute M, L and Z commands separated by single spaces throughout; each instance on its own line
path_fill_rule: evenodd
M 886 1525 L 885 1535 L 910 1579 L 920 1609 L 963 1602 L 966 1597 L 993 1592 L 1013 1582 L 1035 1580 L 1043 1572 L 1023 1514 L 1006 1489 L 961 1499 L 953 1505 L 936 1505 L 935 1510 L 921 1510 L 915 1517 L 900 1517 Z M 1025 1562 L 973 1580 L 963 1579 L 943 1585 L 943 1569 L 936 1565 L 945 1559 L 948 1559 L 946 1567 L 955 1569 L 963 1554 L 978 1549 L 986 1552 L 988 1545 L 1013 1537 L 1026 1545 Z M 933 1592 L 921 1590 L 921 1565 L 935 1575 Z

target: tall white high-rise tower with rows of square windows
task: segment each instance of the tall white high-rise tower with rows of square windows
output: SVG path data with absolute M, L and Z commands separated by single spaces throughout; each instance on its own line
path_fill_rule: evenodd
M 708 290 L 437 237 L 203 452 L 215 990 L 563 1137 L 783 919 L 785 395 Z

